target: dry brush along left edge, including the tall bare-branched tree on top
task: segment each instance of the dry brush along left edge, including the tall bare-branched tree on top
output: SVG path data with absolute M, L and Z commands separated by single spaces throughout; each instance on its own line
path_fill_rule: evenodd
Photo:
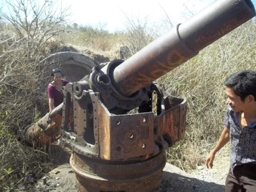
M 68 13 L 47 0 L 7 0 L 6 6 L 10 12 L 0 11 L 0 191 L 13 191 L 51 168 L 48 150 L 24 145 L 23 133 L 46 113 L 46 42 L 64 32 Z

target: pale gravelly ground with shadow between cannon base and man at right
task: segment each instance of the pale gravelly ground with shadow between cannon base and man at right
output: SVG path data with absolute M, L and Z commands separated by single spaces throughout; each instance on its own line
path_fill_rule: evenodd
M 198 166 L 190 173 L 166 164 L 162 185 L 157 192 L 224 192 L 229 160 L 229 156 L 217 156 L 212 169 Z

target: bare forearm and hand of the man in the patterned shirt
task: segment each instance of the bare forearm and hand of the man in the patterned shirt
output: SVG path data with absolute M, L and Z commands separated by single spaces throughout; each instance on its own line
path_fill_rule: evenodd
M 228 128 L 224 128 L 224 130 L 222 131 L 222 133 L 220 134 L 220 138 L 216 144 L 216 146 L 214 147 L 214 149 L 208 154 L 207 158 L 206 158 L 206 166 L 207 168 L 212 168 L 213 166 L 213 160 L 215 158 L 215 154 L 216 152 L 218 152 L 228 141 L 229 141 L 229 129 Z

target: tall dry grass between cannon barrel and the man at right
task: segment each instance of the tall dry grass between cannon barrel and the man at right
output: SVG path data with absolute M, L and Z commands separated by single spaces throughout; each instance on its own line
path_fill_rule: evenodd
M 195 168 L 216 144 L 226 108 L 224 79 L 239 70 L 256 70 L 255 30 L 256 23 L 247 22 L 157 80 L 188 100 L 185 137 L 167 152 L 173 164 Z

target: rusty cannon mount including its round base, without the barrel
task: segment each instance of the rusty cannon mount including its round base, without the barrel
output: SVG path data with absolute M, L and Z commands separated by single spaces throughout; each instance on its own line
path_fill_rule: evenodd
M 74 150 L 70 164 L 78 179 L 78 189 L 154 191 L 165 164 L 163 151 L 184 134 L 186 100 L 167 97 L 152 84 L 159 97 L 157 116 L 154 117 L 150 102 L 140 106 L 138 114 L 118 115 L 109 112 L 98 92 L 83 90 L 85 82 L 79 84 L 67 84 L 64 89 L 62 120 L 65 131 L 73 101 L 75 134 L 65 140 Z

